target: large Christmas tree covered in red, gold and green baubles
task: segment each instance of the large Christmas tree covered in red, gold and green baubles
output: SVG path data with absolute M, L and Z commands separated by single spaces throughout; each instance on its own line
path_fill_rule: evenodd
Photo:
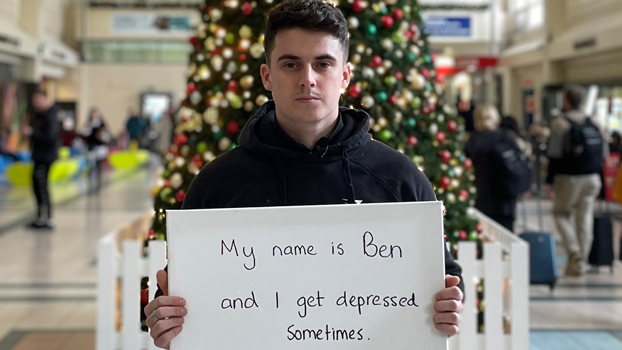
M 154 190 L 149 239 L 165 239 L 165 210 L 181 207 L 202 166 L 235 148 L 241 127 L 270 99 L 259 68 L 267 13 L 278 2 L 208 0 L 199 7 L 203 24 L 190 39 L 187 98 Z M 465 133 L 443 102 L 422 9 L 404 0 L 342 1 L 338 8 L 348 20 L 353 65 L 343 105 L 367 111 L 374 138 L 409 156 L 430 179 L 447 209 L 452 250 L 458 240 L 477 240 L 481 229 L 466 215 L 475 187 L 472 163 L 462 153 Z

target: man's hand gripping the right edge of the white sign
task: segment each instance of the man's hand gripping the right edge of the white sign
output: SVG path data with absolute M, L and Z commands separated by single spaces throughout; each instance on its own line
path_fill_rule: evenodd
M 462 312 L 462 290 L 458 288 L 460 278 L 456 276 L 445 276 L 445 289 L 439 291 L 436 295 L 434 303 L 434 326 L 436 329 L 447 336 L 453 336 L 458 333 L 458 324 L 460 323 L 460 313 Z

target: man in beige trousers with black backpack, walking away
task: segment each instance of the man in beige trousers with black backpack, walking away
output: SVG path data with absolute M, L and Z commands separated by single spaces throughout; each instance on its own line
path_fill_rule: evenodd
M 564 113 L 552 120 L 547 147 L 547 195 L 569 254 L 566 275 L 580 276 L 592 247 L 594 204 L 608 145 L 596 123 L 580 111 L 582 89 L 564 89 Z M 572 214 L 575 220 L 571 220 Z

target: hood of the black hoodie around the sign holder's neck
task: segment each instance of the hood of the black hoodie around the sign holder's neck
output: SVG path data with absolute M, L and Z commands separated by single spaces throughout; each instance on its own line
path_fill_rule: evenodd
M 251 120 L 244 125 L 239 145 L 257 153 L 279 159 L 296 161 L 330 162 L 342 159 L 363 144 L 371 141 L 369 115 L 364 111 L 340 107 L 340 124 L 330 138 L 322 138 L 309 150 L 282 130 L 276 120 L 274 101 L 264 103 Z

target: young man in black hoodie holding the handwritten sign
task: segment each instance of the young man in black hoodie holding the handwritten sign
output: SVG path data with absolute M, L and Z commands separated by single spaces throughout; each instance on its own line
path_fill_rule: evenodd
M 304 28 L 304 29 L 303 29 Z M 368 133 L 369 116 L 339 108 L 348 87 L 348 25 L 318 0 L 287 0 L 267 19 L 261 78 L 273 102 L 246 123 L 240 147 L 216 158 L 192 182 L 184 209 L 435 201 L 432 186 L 406 156 Z M 462 310 L 460 267 L 445 252 L 447 288 L 434 323 L 452 336 Z M 162 290 L 145 308 L 157 346 L 182 331 L 185 301 Z

